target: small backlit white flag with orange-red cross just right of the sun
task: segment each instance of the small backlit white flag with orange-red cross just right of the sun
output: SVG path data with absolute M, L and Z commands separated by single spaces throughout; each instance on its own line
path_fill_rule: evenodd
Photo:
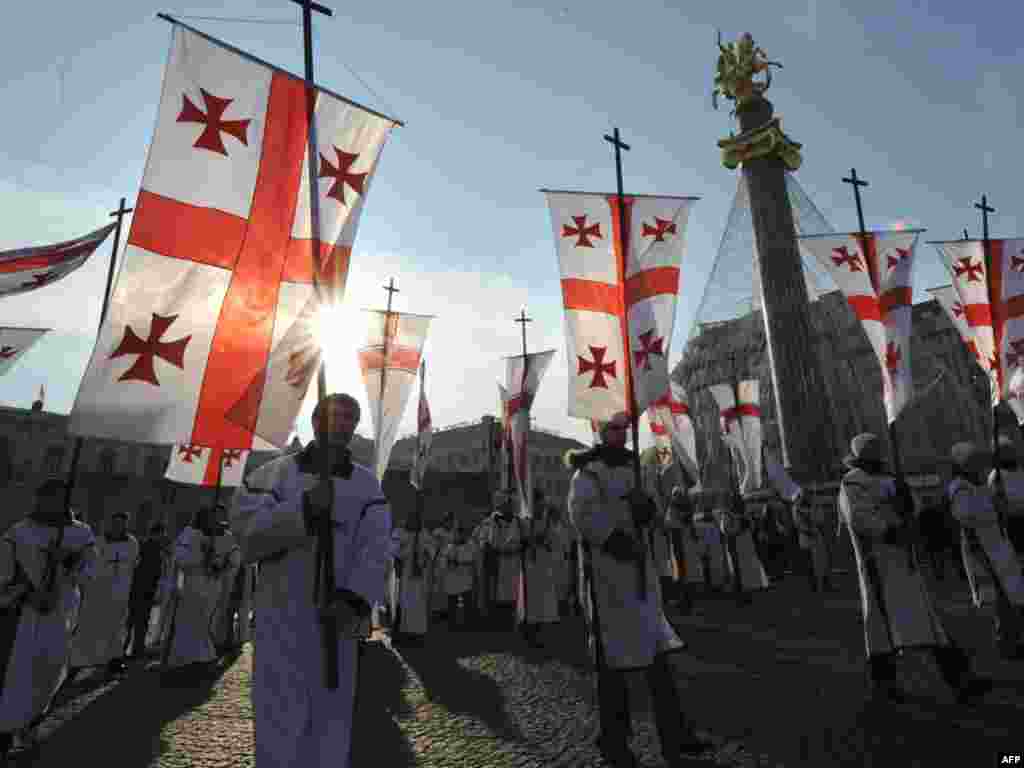
M 420 371 L 423 345 L 433 315 L 367 311 L 370 333 L 367 345 L 359 349 L 359 368 L 374 425 L 377 479 L 382 479 L 394 447 L 398 424 Z

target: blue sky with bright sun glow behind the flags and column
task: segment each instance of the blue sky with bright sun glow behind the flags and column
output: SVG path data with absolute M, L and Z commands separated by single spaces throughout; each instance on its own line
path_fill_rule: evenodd
M 292 72 L 302 71 L 299 9 L 286 0 L 157 4 L 18 3 L 0 28 L 0 250 L 84 234 L 120 198 L 134 201 L 160 98 L 170 26 L 158 11 Z M 331 5 L 331 3 L 328 3 Z M 502 355 L 519 352 L 520 307 L 532 350 L 557 350 L 534 415 L 589 441 L 567 412 L 561 293 L 540 187 L 608 191 L 604 133 L 622 131 L 627 191 L 699 196 L 670 365 L 682 355 L 714 264 L 735 176 L 716 141 L 734 128 L 711 90 L 716 29 L 751 32 L 784 69 L 769 97 L 804 144 L 798 179 L 828 221 L 852 229 L 841 178 L 851 167 L 869 228 L 902 222 L 927 240 L 1024 233 L 1019 143 L 1024 6 L 985 13 L 952 0 L 718 0 L 549 3 L 391 0 L 336 5 L 317 18 L 316 79 L 399 118 L 381 156 L 355 244 L 349 322 L 328 354 L 329 385 L 366 403 L 355 349 L 358 309 L 434 314 L 425 350 L 434 424 L 497 407 Z M 187 16 L 281 24 L 203 20 Z M 74 275 L 0 301 L 0 326 L 52 328 L 0 379 L 0 404 L 27 407 L 46 384 L 48 411 L 71 410 L 98 322 L 111 241 Z M 930 247 L 919 288 L 948 283 Z M 926 298 L 926 297 L 922 297 Z M 399 434 L 415 429 L 415 394 Z M 309 403 L 300 415 L 308 438 Z M 369 421 L 360 432 L 369 433 Z M 646 441 L 646 440 L 645 440 Z

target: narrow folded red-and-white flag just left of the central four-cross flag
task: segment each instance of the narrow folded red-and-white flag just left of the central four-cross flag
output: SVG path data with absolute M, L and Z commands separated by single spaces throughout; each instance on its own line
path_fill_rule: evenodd
M 516 488 L 519 492 L 519 509 L 524 517 L 534 511 L 534 473 L 529 466 L 529 410 L 547 373 L 554 349 L 532 352 L 525 359 L 521 354 L 505 358 L 505 414 L 512 447 L 512 465 Z

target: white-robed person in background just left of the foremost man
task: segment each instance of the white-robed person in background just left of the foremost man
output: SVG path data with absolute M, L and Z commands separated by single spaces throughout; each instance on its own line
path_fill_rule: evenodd
M 216 515 L 203 507 L 174 542 L 176 578 L 173 615 L 165 639 L 164 668 L 205 665 L 217 658 L 213 613 L 220 596 L 220 563 L 216 548 Z

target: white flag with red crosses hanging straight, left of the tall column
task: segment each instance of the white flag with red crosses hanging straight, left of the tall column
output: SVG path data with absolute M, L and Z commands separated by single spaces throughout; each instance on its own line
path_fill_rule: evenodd
M 669 389 L 665 360 L 695 198 L 626 196 L 624 238 L 617 196 L 545 193 L 561 266 L 569 416 L 639 415 Z

